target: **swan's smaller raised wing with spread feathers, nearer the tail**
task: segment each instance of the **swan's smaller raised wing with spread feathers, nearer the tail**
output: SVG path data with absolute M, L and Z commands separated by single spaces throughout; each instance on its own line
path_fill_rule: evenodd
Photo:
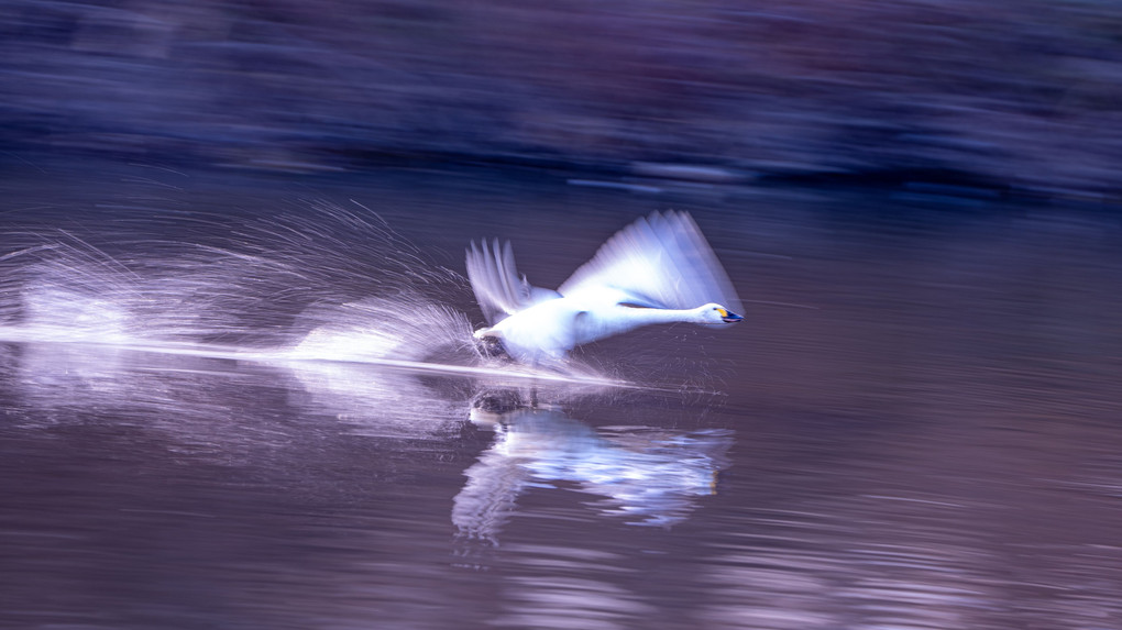
M 544 299 L 561 297 L 557 291 L 532 287 L 525 277 L 518 276 L 509 242 L 502 248 L 498 239 L 491 247 L 487 247 L 487 241 L 479 244 L 477 248 L 472 241 L 468 250 L 468 280 L 489 324 L 495 325 Z

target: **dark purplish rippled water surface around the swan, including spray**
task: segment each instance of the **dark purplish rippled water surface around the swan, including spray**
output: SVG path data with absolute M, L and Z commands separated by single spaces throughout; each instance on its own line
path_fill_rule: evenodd
M 4 627 L 1122 627 L 1110 209 L 30 163 Z M 481 365 L 469 239 L 550 287 L 666 209 L 744 324 L 579 383 L 371 363 Z

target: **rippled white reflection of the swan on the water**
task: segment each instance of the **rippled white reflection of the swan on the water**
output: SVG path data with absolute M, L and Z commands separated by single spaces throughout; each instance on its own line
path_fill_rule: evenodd
M 718 429 L 596 429 L 513 392 L 478 397 L 469 417 L 496 436 L 465 471 L 452 521 L 461 539 L 485 544 L 498 543 L 519 494 L 559 484 L 598 497 L 591 508 L 627 524 L 672 526 L 716 493 L 732 444 L 730 432 Z

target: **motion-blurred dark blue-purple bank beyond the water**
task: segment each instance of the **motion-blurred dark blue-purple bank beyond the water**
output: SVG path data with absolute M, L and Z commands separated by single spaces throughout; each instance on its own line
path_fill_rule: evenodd
M 1113 197 L 1120 40 L 1095 0 L 2 0 L 0 147 Z

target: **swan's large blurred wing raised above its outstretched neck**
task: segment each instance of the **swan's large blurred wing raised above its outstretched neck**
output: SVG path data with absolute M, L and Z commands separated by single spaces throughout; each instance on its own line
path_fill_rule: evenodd
M 572 297 L 605 288 L 638 306 L 696 308 L 716 302 L 743 313 L 728 275 L 684 212 L 656 212 L 624 228 L 558 291 Z

